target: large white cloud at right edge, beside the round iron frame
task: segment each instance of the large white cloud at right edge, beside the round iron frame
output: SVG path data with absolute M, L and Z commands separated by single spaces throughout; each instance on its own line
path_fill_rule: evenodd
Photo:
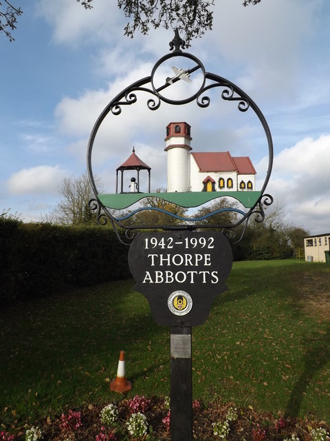
M 265 173 L 266 163 L 263 158 L 257 164 L 263 170 L 261 174 Z M 303 225 L 313 234 L 330 230 L 329 164 L 330 135 L 315 140 L 305 138 L 274 156 L 266 189 L 285 205 L 294 225 Z

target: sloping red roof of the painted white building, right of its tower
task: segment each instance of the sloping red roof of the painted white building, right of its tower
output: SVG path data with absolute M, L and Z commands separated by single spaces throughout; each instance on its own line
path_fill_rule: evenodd
M 256 174 L 248 156 L 235 156 L 230 152 L 195 152 L 194 157 L 199 172 L 238 172 L 239 174 Z

